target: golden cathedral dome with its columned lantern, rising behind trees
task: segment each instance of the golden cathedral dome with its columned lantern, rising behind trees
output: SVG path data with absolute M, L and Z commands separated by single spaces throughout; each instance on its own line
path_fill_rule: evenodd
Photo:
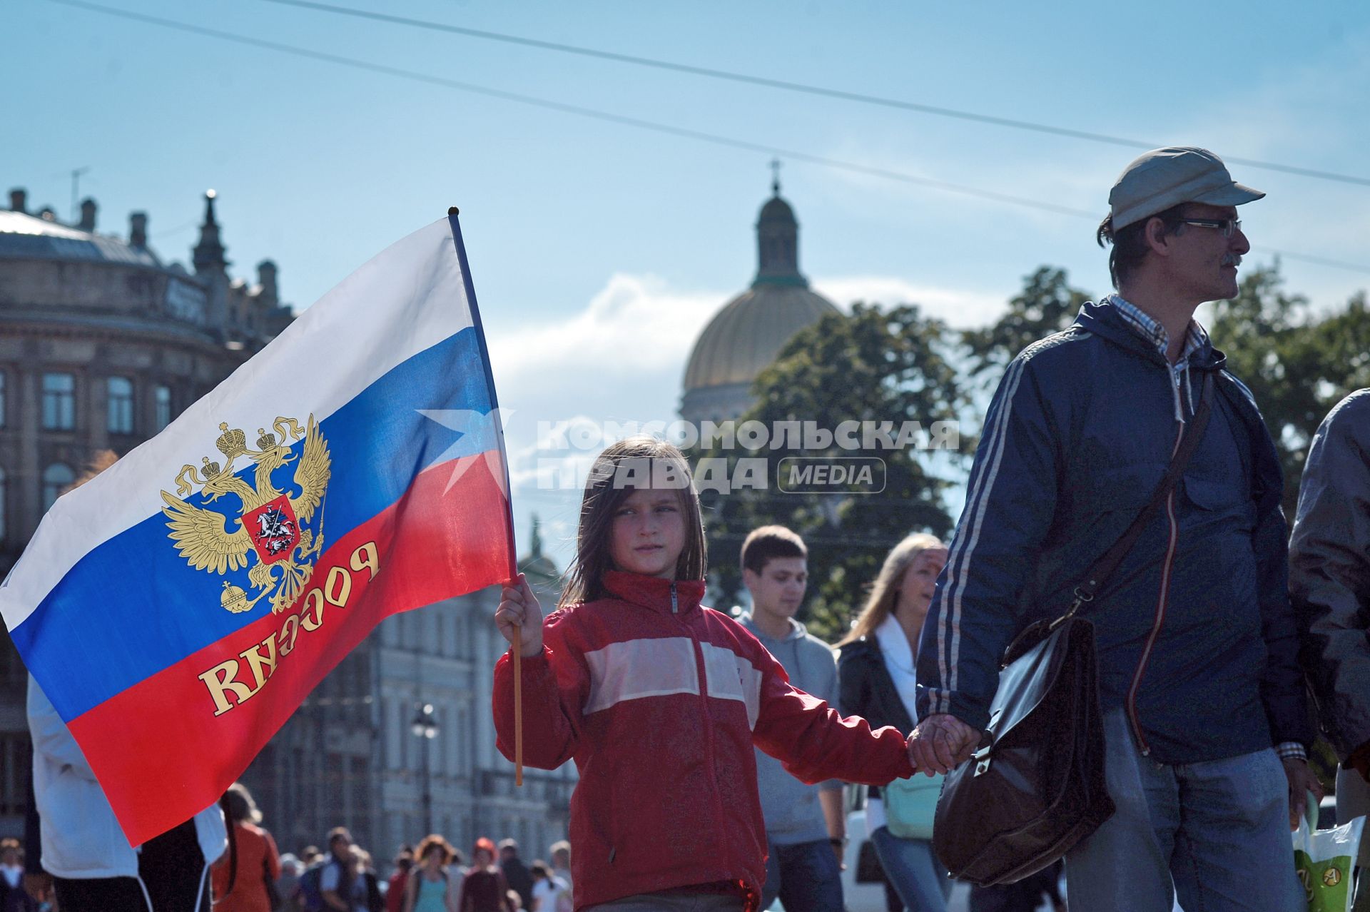
M 795 333 L 838 309 L 799 271 L 799 222 L 771 183 L 756 219 L 756 279 L 700 333 L 685 367 L 681 418 L 695 425 L 741 416 L 752 383 Z

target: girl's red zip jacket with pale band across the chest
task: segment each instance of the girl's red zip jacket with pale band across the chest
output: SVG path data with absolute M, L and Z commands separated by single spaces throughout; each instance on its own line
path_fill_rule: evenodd
M 912 775 L 904 735 L 843 719 L 785 670 L 704 583 L 611 571 L 610 596 L 551 613 L 523 660 L 523 761 L 575 760 L 575 908 L 729 882 L 755 908 L 766 824 L 752 745 L 804 782 Z M 499 749 L 514 759 L 514 667 L 495 666 Z

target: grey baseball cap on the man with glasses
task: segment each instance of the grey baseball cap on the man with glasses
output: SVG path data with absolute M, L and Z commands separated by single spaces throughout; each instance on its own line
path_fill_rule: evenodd
M 1122 170 L 1108 192 L 1108 211 L 1118 231 L 1181 203 L 1241 205 L 1263 196 L 1233 181 L 1228 166 L 1208 149 L 1169 145 L 1143 153 Z

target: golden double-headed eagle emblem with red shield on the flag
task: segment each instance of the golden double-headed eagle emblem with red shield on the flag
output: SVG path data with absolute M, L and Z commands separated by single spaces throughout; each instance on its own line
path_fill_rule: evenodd
M 271 612 L 285 611 L 304 592 L 323 552 L 322 505 L 333 467 L 327 441 L 319 434 L 314 415 L 303 430 L 293 418 L 277 418 L 271 427 L 274 434 L 258 429 L 256 449 L 248 449 L 241 430 L 229 430 L 221 423 L 223 433 L 215 445 L 227 463 L 221 467 L 206 456 L 200 467 L 186 464 L 175 479 L 177 494 L 162 492 L 170 538 L 192 567 L 222 577 L 242 570 L 256 556 L 256 564 L 247 572 L 248 585 L 258 590 L 255 597 L 249 598 L 247 590 L 230 579 L 223 581 L 221 604 L 234 613 L 249 611 L 269 593 Z M 292 444 L 301 437 L 303 451 L 292 455 Z M 240 478 L 238 471 L 245 467 L 236 470 L 234 461 L 242 457 L 255 468 Z M 295 463 L 293 485 L 282 492 L 271 475 L 289 463 Z M 181 500 L 192 494 L 196 485 L 204 507 Z M 300 489 L 299 496 L 290 496 L 295 487 Z M 237 514 L 208 508 L 225 494 L 236 494 L 241 501 Z M 319 520 L 311 531 L 306 526 L 315 512 Z

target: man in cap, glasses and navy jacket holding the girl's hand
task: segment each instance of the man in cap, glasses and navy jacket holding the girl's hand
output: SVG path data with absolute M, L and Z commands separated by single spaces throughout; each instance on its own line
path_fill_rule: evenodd
M 1117 294 L 1012 360 L 918 653 L 921 768 L 963 761 L 1004 646 L 1064 613 L 1164 475 L 1204 378 L 1206 433 L 1097 597 L 1117 812 L 1066 856 L 1073 912 L 1303 909 L 1289 826 L 1315 789 L 1286 592 L 1282 478 L 1249 390 L 1193 320 L 1237 294 L 1237 205 L 1263 193 L 1199 148 L 1147 152 L 1108 196 Z M 1291 801 L 1292 797 L 1292 801 Z M 1174 883 L 1174 887 L 1171 887 Z

